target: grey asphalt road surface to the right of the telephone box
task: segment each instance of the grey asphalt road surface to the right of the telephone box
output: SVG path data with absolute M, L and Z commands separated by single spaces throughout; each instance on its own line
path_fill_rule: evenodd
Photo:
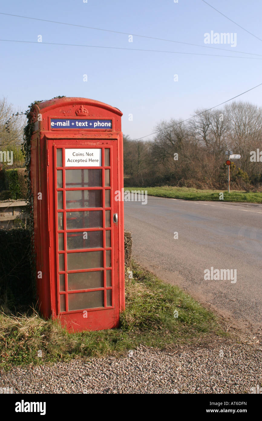
M 135 261 L 261 333 L 262 205 L 148 196 L 147 204 L 125 202 L 124 219 Z M 212 267 L 232 269 L 232 277 L 204 279 Z

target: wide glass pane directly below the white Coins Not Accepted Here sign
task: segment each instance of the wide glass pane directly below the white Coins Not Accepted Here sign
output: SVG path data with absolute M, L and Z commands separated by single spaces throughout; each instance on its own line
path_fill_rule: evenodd
M 102 170 L 66 170 L 66 187 L 102 187 Z

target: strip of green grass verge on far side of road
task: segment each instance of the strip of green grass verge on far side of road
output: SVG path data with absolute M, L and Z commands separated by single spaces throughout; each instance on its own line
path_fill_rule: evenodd
M 207 200 L 218 202 L 248 202 L 262 203 L 262 193 L 241 192 L 232 190 L 230 193 L 223 190 L 200 190 L 188 187 L 126 187 L 126 190 L 147 190 L 148 195 L 159 197 L 170 197 L 184 200 Z M 220 200 L 220 193 L 224 194 L 224 199 Z

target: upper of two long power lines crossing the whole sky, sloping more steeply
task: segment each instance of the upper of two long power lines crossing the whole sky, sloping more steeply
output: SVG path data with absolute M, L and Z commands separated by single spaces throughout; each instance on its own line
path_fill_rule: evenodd
M 14 16 L 14 17 L 23 18 L 23 19 L 32 19 L 32 20 L 35 20 L 35 21 L 49 22 L 49 23 L 53 23 L 53 24 L 74 26 L 74 27 L 78 27 L 78 28 L 94 29 L 96 31 L 112 32 L 112 33 L 115 33 L 115 34 L 122 34 L 122 35 L 131 35 L 131 33 L 128 33 L 128 32 L 120 32 L 120 31 L 113 31 L 113 30 L 110 30 L 110 29 L 87 27 L 87 26 L 84 26 L 84 25 L 69 24 L 69 23 L 66 23 L 66 22 L 58 22 L 58 21 L 50 21 L 48 19 L 32 18 L 32 17 L 29 17 L 29 16 L 13 15 L 11 13 L 2 13 L 2 12 L 0 12 L 0 14 L 1 15 L 6 15 L 6 16 Z M 261 54 L 246 53 L 245 51 L 236 51 L 236 50 L 228 50 L 226 48 L 211 47 L 210 45 L 185 43 L 183 41 L 166 40 L 164 38 L 149 37 L 149 36 L 146 36 L 146 35 L 138 35 L 138 34 L 132 34 L 132 35 L 134 37 L 148 38 L 148 39 L 151 39 L 151 40 L 158 40 L 158 41 L 166 41 L 166 42 L 169 42 L 169 43 L 178 43 L 178 44 L 191 45 L 191 46 L 193 45 L 194 47 L 212 48 L 212 49 L 215 49 L 215 50 L 230 51 L 232 53 L 249 54 L 249 55 L 252 55 L 252 56 L 262 56 Z

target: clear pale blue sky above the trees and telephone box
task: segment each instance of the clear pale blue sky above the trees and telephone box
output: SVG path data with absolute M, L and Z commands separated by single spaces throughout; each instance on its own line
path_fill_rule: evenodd
M 262 4 L 257 0 L 207 0 L 219 11 L 262 38 Z M 200 45 L 206 32 L 233 32 L 237 46 L 212 50 L 160 40 L 22 19 L 0 14 L 0 96 L 16 108 L 57 95 L 96 99 L 121 109 L 122 129 L 132 139 L 153 131 L 160 120 L 188 118 L 262 83 L 261 60 L 131 51 L 132 48 L 249 57 L 262 54 L 262 41 L 201 0 L 45 0 L 2 2 L 2 13 L 61 21 Z M 122 47 L 85 48 L 44 43 Z M 250 56 L 256 57 L 256 56 Z M 262 59 L 262 56 L 260 57 Z M 87 74 L 88 81 L 83 82 Z M 178 82 L 174 82 L 174 74 Z M 262 86 L 241 97 L 262 105 Z M 133 115 L 133 121 L 128 115 Z M 148 139 L 148 138 L 147 138 Z

